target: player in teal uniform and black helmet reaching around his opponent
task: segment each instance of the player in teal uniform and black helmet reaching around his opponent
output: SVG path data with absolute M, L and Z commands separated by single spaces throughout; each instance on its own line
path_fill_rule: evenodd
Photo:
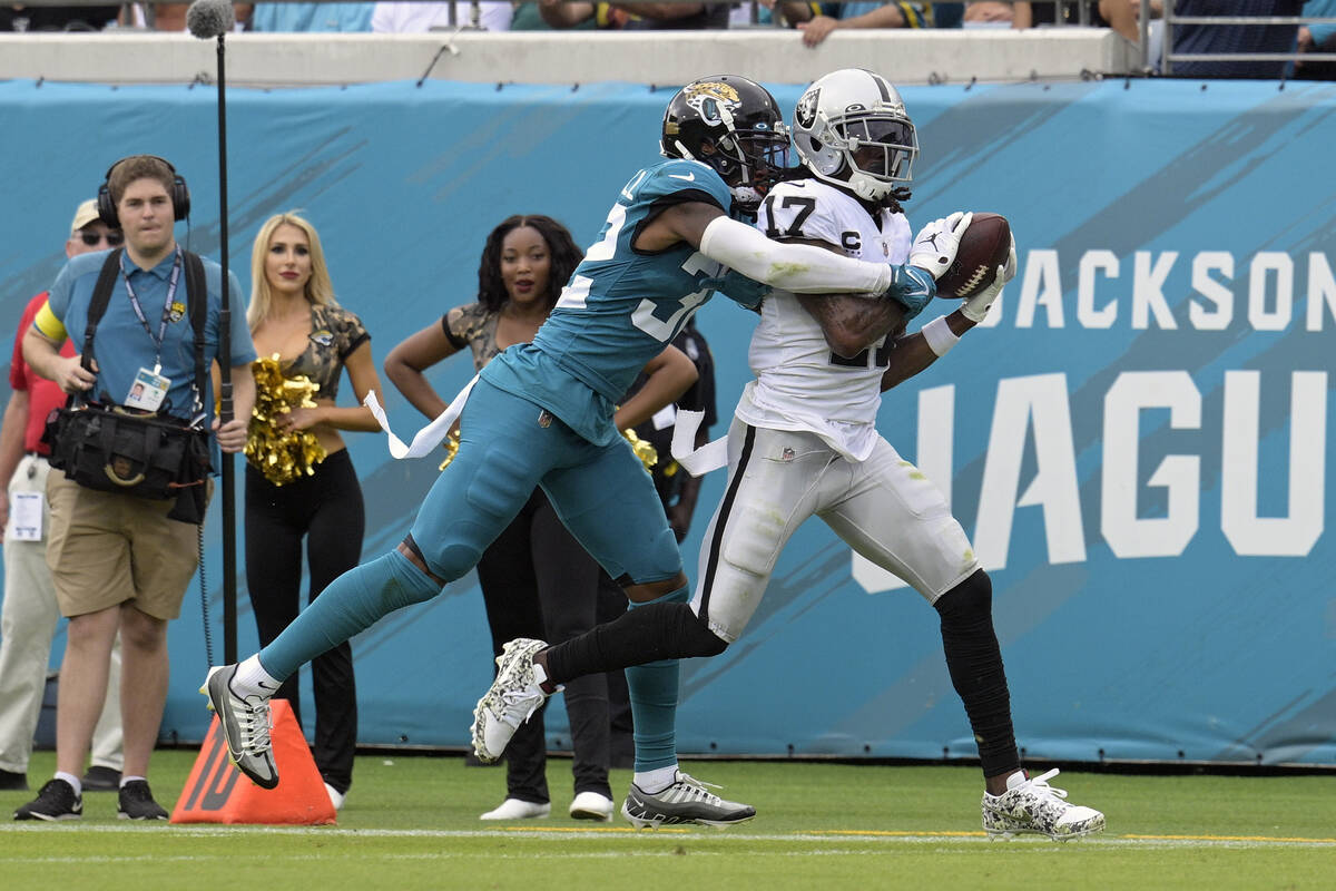
M 788 131 L 774 96 L 719 75 L 680 90 L 663 123 L 668 160 L 621 188 L 552 315 L 478 375 L 460 415 L 460 449 L 390 553 L 349 570 L 259 653 L 210 671 L 202 692 L 218 711 L 232 760 L 259 785 L 278 772 L 269 696 L 286 677 L 382 616 L 430 600 L 464 576 L 542 486 L 581 545 L 632 606 L 685 601 L 681 554 L 649 476 L 612 423 L 616 399 L 716 290 L 755 306 L 768 286 L 854 293 L 922 306 L 935 294 L 925 269 L 947 269 L 958 231 L 938 238 L 933 263 L 887 266 L 820 247 L 767 239 L 732 214 L 754 212 L 783 175 Z M 508 648 L 502 673 L 534 676 L 532 651 Z M 723 801 L 677 769 L 676 661 L 629 669 L 636 784 L 685 822 L 728 824 L 755 811 Z M 533 709 L 485 697 L 474 749 L 494 760 Z

